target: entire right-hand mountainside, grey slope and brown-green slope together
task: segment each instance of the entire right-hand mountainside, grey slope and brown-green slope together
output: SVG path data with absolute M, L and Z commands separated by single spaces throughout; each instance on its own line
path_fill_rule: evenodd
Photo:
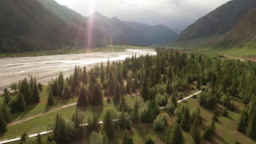
M 255 8 L 256 0 L 230 0 L 188 26 L 167 46 L 207 51 L 254 46 L 255 50 Z

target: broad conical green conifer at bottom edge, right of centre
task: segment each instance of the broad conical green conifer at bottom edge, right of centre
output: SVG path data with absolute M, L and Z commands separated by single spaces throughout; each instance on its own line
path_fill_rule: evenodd
M 166 144 L 183 144 L 184 137 L 181 131 L 181 127 L 177 122 L 174 122 L 173 125 L 166 132 L 165 136 Z

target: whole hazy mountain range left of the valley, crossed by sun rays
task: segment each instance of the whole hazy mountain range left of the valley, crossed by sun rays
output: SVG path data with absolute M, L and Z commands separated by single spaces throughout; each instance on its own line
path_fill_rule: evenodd
M 0 0 L 0 52 L 27 52 L 111 44 L 162 45 L 178 34 L 164 25 L 82 16 L 54 0 Z

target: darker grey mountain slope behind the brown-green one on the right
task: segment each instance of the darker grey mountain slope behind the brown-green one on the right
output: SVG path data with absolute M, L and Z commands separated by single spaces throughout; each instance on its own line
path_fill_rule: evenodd
M 204 43 L 222 36 L 255 7 L 256 0 L 231 0 L 188 26 L 169 45 Z

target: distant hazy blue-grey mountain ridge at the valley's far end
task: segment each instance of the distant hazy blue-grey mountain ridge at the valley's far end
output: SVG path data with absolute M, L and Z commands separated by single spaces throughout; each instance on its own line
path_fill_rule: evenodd
M 164 25 L 149 26 L 147 24 L 121 21 L 117 17 L 109 19 L 101 13 L 95 12 L 87 19 L 101 20 L 106 23 L 113 43 L 162 45 L 174 39 L 178 34 Z

